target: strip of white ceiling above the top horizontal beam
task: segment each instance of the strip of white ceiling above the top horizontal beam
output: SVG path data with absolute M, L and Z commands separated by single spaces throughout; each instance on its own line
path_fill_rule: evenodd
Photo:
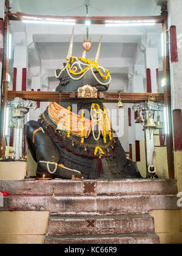
M 86 14 L 89 4 L 90 16 L 140 16 L 160 15 L 158 0 L 10 0 L 12 12 L 42 15 Z

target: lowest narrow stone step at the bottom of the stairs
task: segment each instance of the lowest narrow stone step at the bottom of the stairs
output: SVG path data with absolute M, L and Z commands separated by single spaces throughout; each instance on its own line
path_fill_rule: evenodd
M 159 244 L 155 233 L 89 236 L 47 236 L 45 244 Z M 99 246 L 101 247 L 101 245 Z

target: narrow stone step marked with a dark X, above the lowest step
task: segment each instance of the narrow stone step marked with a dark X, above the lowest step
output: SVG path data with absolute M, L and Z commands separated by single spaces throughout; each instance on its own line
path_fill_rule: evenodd
M 52 215 L 49 218 L 47 235 L 112 235 L 153 232 L 155 232 L 154 219 L 150 215 Z

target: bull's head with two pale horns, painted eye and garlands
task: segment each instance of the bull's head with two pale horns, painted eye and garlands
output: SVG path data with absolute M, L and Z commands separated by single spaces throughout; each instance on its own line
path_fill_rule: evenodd
M 55 71 L 56 78 L 60 80 L 56 91 L 78 91 L 78 88 L 83 87 L 83 85 L 91 85 L 96 87 L 98 91 L 107 91 L 111 77 L 107 69 L 98 65 L 100 48 L 101 40 L 94 62 L 85 58 L 85 51 L 83 52 L 83 57 L 73 57 L 72 33 L 69 54 L 67 56 L 68 62 L 64 63 L 61 69 Z

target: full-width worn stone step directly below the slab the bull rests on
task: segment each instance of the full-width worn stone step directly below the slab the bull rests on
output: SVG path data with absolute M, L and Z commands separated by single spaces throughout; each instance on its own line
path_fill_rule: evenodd
M 49 211 L 60 215 L 130 215 L 179 210 L 177 196 L 9 196 L 2 211 Z

